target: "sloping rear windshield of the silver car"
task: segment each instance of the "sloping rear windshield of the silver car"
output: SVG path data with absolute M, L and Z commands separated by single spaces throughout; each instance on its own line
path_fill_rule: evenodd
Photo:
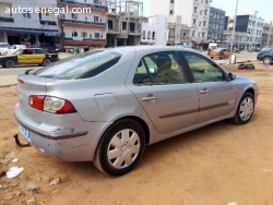
M 87 79 L 109 69 L 119 61 L 121 53 L 115 51 L 83 52 L 49 64 L 33 74 L 58 80 Z

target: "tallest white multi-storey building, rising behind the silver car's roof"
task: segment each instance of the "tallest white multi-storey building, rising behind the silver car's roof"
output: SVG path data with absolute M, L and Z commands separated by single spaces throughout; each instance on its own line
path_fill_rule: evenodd
M 205 49 L 210 3 L 211 0 L 151 0 L 151 13 L 168 16 L 168 45 L 189 40 L 192 47 Z

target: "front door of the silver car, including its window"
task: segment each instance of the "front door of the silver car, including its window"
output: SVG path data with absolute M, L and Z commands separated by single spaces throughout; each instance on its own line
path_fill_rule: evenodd
M 235 109 L 238 91 L 233 82 L 226 80 L 226 72 L 202 55 L 190 51 L 182 53 L 199 92 L 198 122 L 230 113 Z

